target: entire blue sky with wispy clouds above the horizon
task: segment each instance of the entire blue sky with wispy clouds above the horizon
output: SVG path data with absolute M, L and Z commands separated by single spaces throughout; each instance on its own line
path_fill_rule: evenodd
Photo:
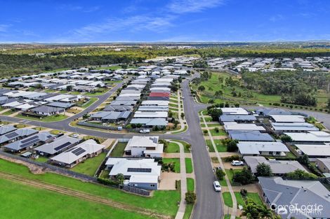
M 0 42 L 330 39 L 329 0 L 1 0 L 0 6 Z

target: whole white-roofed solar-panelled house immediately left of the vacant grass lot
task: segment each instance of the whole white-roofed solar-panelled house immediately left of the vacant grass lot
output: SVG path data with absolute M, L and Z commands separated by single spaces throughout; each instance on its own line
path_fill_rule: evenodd
M 84 160 L 98 156 L 102 153 L 105 146 L 96 143 L 93 139 L 88 139 L 77 146 L 74 146 L 64 152 L 51 158 L 51 162 L 64 167 L 74 167 Z

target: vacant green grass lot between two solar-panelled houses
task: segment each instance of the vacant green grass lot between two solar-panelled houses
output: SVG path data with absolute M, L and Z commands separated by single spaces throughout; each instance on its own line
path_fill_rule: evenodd
M 97 157 L 88 158 L 84 162 L 72 167 L 71 170 L 88 176 L 94 176 L 95 171 L 98 169 L 101 162 L 103 162 L 106 155 L 106 153 L 100 153 Z

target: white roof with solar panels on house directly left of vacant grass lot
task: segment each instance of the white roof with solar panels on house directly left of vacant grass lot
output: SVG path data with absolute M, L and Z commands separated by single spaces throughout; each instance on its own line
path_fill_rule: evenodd
M 96 141 L 94 141 L 93 139 L 88 139 L 87 141 L 79 143 L 79 145 L 74 146 L 73 148 L 70 148 L 63 153 L 56 155 L 55 157 L 51 158 L 51 160 L 55 160 L 57 162 L 62 162 L 65 164 L 72 164 L 76 160 L 79 160 L 81 157 L 96 153 L 103 148 L 105 148 L 105 146 L 96 143 Z

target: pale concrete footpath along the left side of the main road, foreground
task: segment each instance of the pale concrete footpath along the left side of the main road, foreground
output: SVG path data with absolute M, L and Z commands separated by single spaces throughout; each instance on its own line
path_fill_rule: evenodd
M 181 176 L 181 201 L 178 212 L 176 213 L 176 219 L 183 219 L 185 215 L 185 193 L 187 192 L 187 174 L 185 172 L 185 148 L 182 143 L 178 141 L 170 141 L 177 143 L 180 147 L 180 176 Z

